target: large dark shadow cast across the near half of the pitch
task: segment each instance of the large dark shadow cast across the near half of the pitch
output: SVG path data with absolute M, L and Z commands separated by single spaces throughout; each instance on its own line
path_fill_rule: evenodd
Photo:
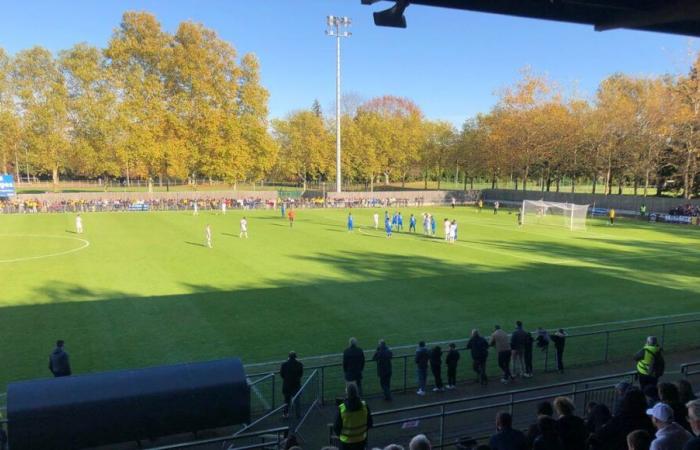
M 494 269 L 478 261 L 348 251 L 300 256 L 332 268 L 332 278 L 270 275 L 259 280 L 265 288 L 182 284 L 186 293 L 140 297 L 118 286 L 94 290 L 53 281 L 36 289 L 35 304 L 0 308 L 0 388 L 46 376 L 56 339 L 66 340 L 80 373 L 231 355 L 267 361 L 292 349 L 336 353 L 348 336 L 367 346 L 379 338 L 390 345 L 456 339 L 472 328 L 490 331 L 495 323 L 510 329 L 515 320 L 529 329 L 566 327 L 692 311 L 700 300 L 694 287 L 640 282 L 622 271 L 653 267 L 653 261 L 615 260 L 565 243 L 499 246 L 540 257 L 602 260 L 612 269 L 535 261 Z M 663 247 L 645 251 L 662 253 Z M 689 274 L 699 262 L 684 261 L 687 267 L 673 270 Z

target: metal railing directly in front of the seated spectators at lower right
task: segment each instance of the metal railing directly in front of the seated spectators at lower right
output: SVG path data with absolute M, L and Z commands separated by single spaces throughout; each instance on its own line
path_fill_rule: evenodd
M 511 390 L 482 396 L 445 400 L 422 405 L 379 411 L 372 414 L 374 425 L 369 432 L 370 447 L 383 447 L 392 442 L 407 441 L 420 432 L 426 434 L 434 448 L 454 445 L 454 440 L 468 436 L 489 436 L 492 418 L 498 411 L 513 415 L 514 427 L 526 427 L 532 419 L 536 403 L 569 396 L 579 409 L 592 400 L 612 404 L 616 399 L 614 386 L 631 380 L 635 372 L 586 378 L 566 383 Z M 423 413 L 418 413 L 424 411 Z M 488 419 L 484 414 L 490 412 Z M 386 418 L 383 421 L 377 419 Z M 465 424 L 471 424 L 465 426 Z M 328 442 L 337 444 L 333 424 L 328 424 Z

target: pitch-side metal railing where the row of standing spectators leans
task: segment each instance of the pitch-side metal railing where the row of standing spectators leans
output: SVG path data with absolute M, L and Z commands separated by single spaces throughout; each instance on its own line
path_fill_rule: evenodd
M 665 351 L 688 350 L 689 342 L 698 342 L 700 346 L 700 318 L 677 320 L 670 322 L 659 322 L 653 324 L 636 325 L 615 329 L 591 331 L 584 333 L 571 334 L 566 339 L 566 347 L 564 353 L 564 361 L 567 367 L 586 366 L 600 363 L 607 363 L 616 359 L 629 358 L 632 361 L 632 356 L 642 347 L 644 339 L 648 335 L 656 335 Z M 429 345 L 443 345 L 449 342 L 457 344 L 458 349 L 465 350 L 468 339 L 455 339 L 451 341 L 437 341 L 429 343 Z M 533 349 L 533 366 L 537 371 L 554 371 L 556 363 L 554 362 L 554 349 L 547 346 L 543 350 Z M 414 389 L 417 382 L 414 379 L 415 364 L 413 349 L 415 347 L 395 347 L 394 358 L 392 359 L 393 366 L 393 388 L 394 392 L 408 392 L 409 389 Z M 362 379 L 362 396 L 375 397 L 382 393 L 379 386 L 379 379 L 376 376 L 374 363 L 371 361 L 371 351 L 365 351 L 365 356 L 368 359 L 368 366 L 364 370 Z M 539 356 L 537 356 L 539 354 Z M 463 355 L 467 356 L 468 354 Z M 469 361 L 467 358 L 461 359 L 461 367 L 464 368 Z M 342 355 L 330 355 L 326 359 L 331 359 L 332 362 L 325 364 L 312 365 L 306 367 L 306 370 L 317 370 L 320 375 L 320 401 L 325 403 L 326 398 L 333 398 L 336 395 L 341 395 L 344 392 L 345 380 L 342 368 Z M 490 355 L 487 360 L 487 373 L 492 376 L 500 374 L 495 355 Z M 302 359 L 301 361 L 304 361 Z M 308 359 L 307 359 L 308 361 Z M 269 367 L 271 364 L 252 364 L 247 368 L 260 368 L 265 365 Z M 633 363 L 630 362 L 630 366 Z M 250 375 L 250 377 L 262 376 L 270 372 L 261 372 Z M 278 374 L 275 369 L 272 373 Z M 464 374 L 462 369 L 458 374 Z M 463 376 L 463 375 L 462 375 Z M 398 383 L 397 383 L 398 381 Z

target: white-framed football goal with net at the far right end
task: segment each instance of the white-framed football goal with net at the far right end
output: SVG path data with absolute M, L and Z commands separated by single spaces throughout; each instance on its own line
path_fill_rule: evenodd
M 523 225 L 538 224 L 566 227 L 572 231 L 585 230 L 588 205 L 523 200 L 521 214 Z

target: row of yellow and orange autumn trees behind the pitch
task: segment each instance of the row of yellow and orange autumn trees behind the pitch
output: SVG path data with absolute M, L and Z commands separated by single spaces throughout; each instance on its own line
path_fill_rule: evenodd
M 344 181 L 449 178 L 516 189 L 685 197 L 700 189 L 700 60 L 683 76 L 613 75 L 594 98 L 525 71 L 461 130 L 384 96 L 343 105 Z M 0 170 L 17 176 L 334 181 L 335 118 L 318 102 L 268 120 L 252 54 L 183 22 L 126 13 L 105 49 L 0 49 Z M 353 99 L 350 99 L 353 100 Z

